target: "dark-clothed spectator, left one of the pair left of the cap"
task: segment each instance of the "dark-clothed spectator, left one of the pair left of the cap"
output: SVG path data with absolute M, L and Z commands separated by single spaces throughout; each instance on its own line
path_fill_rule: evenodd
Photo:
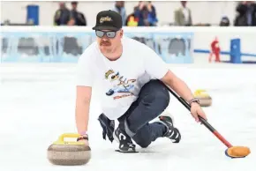
M 70 21 L 70 11 L 66 8 L 63 2 L 59 3 L 59 9 L 55 12 L 54 25 L 64 26 L 68 25 Z

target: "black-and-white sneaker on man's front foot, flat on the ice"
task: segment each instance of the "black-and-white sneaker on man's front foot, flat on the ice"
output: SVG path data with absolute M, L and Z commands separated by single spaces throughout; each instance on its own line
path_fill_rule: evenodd
M 114 138 L 119 143 L 119 150 L 117 152 L 136 152 L 136 145 L 132 143 L 132 138 L 126 132 L 120 130 L 119 127 L 114 132 Z

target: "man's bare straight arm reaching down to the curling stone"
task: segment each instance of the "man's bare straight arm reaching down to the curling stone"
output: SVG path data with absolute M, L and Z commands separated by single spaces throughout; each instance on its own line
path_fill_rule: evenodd
M 91 95 L 92 88 L 90 86 L 77 86 L 76 124 L 80 134 L 84 134 L 88 130 Z

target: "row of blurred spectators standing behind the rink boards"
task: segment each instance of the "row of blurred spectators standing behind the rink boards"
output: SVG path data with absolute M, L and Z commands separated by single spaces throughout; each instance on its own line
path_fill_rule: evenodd
M 192 3 L 192 2 L 189 2 Z M 189 3 L 181 1 L 180 6 L 173 11 L 174 21 L 168 23 L 169 26 L 212 26 L 212 24 L 193 23 L 193 11 L 189 7 Z M 67 7 L 67 3 L 60 2 L 59 8 L 53 16 L 54 26 L 87 26 L 87 16 L 78 10 L 79 2 L 71 2 L 71 8 Z M 126 12 L 125 1 L 116 1 L 112 9 L 120 13 L 124 26 L 160 26 L 157 16 L 157 9 L 154 2 L 139 1 L 133 7 L 132 13 Z M 227 16 L 220 16 L 218 26 L 256 26 L 256 3 L 255 1 L 241 1 L 237 3 L 236 16 L 234 20 L 230 20 Z M 8 19 L 2 25 L 15 26 Z M 33 25 L 26 23 L 25 25 Z

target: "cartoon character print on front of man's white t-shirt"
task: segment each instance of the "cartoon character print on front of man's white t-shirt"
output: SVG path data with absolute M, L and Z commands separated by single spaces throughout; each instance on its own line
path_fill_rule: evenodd
M 106 93 L 108 96 L 114 95 L 114 100 L 132 96 L 131 90 L 134 88 L 136 79 L 127 79 L 120 76 L 119 71 L 109 70 L 105 73 L 105 78 L 109 80 L 112 88 Z

